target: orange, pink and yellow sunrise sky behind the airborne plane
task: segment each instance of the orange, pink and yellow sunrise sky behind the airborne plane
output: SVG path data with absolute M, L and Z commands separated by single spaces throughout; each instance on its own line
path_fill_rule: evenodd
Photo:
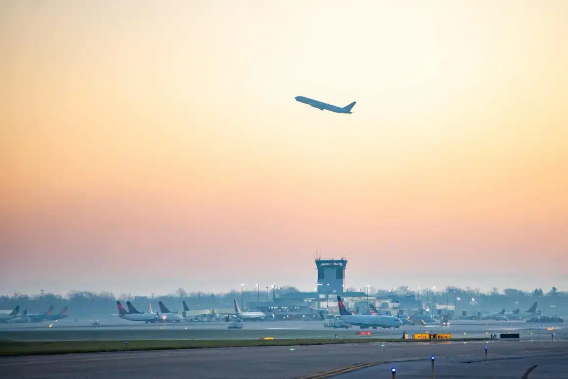
M 0 293 L 568 289 L 567 15 L 4 1 Z

